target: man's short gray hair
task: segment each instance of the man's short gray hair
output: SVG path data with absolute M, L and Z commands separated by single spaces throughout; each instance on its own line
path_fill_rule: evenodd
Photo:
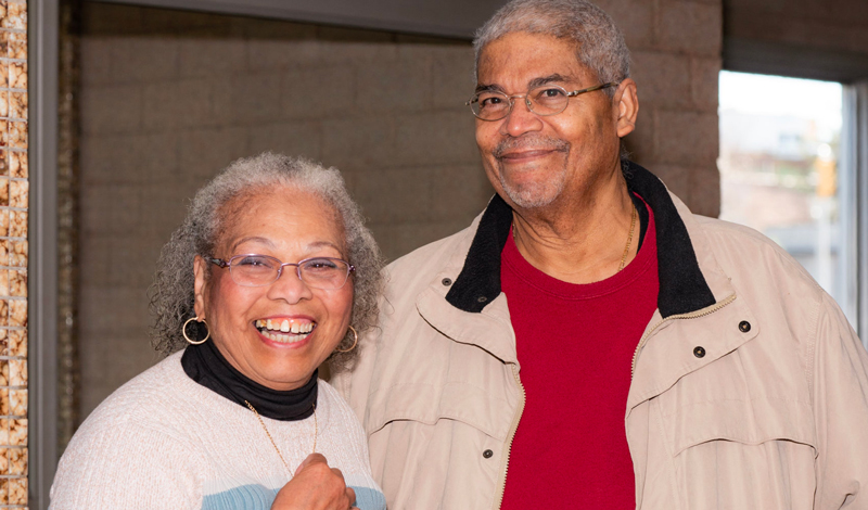
M 601 84 L 618 82 L 630 75 L 630 52 L 624 36 L 602 9 L 587 0 L 512 0 L 476 30 L 473 49 L 477 78 L 482 50 L 514 31 L 573 41 L 578 62 L 596 73 Z M 612 88 L 604 91 L 610 97 L 615 92 Z

